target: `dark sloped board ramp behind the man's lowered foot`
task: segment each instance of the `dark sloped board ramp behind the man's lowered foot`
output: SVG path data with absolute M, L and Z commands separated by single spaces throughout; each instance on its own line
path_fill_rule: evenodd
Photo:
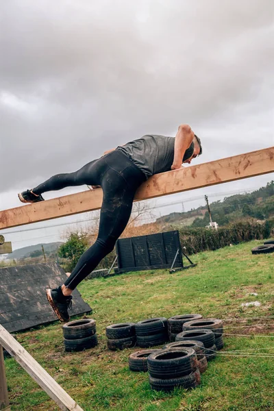
M 66 278 L 64 270 L 54 262 L 0 269 L 0 324 L 8 332 L 17 332 L 56 321 L 45 290 L 56 288 Z M 90 306 L 75 290 L 71 316 L 90 311 Z

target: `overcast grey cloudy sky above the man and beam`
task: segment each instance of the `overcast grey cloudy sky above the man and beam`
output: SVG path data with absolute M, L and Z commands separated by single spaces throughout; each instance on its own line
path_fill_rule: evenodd
M 180 123 L 201 138 L 196 163 L 273 146 L 273 0 L 8 0 L 0 13 L 2 210 Z

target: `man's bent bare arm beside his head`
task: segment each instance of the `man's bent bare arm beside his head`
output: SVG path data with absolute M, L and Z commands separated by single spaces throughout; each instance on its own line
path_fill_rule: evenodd
M 179 125 L 177 134 L 175 136 L 174 158 L 171 170 L 180 169 L 182 167 L 182 158 L 185 151 L 190 147 L 194 139 L 194 133 L 187 124 Z

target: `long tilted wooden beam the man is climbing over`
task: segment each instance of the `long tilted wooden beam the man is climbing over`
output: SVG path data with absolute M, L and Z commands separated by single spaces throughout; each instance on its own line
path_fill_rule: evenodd
M 234 155 L 208 163 L 168 171 L 150 177 L 136 192 L 134 201 L 194 190 L 274 172 L 274 147 Z M 0 229 L 98 210 L 102 190 L 97 188 L 0 212 Z

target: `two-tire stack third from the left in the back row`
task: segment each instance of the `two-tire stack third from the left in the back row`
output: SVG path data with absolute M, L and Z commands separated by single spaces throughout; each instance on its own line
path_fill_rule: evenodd
M 135 330 L 138 347 L 149 348 L 169 341 L 167 319 L 164 317 L 138 321 Z

